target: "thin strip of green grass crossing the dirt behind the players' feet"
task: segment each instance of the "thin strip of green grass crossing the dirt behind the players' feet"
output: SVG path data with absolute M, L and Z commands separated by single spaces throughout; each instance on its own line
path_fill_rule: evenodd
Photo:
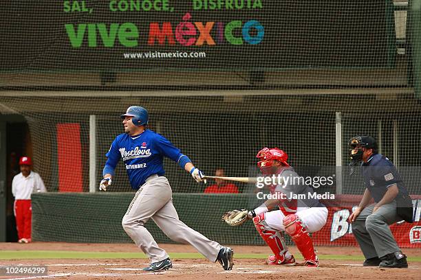
M 199 253 L 169 253 L 172 259 L 203 259 Z M 266 254 L 235 254 L 235 259 L 266 259 Z M 301 256 L 296 256 L 301 258 Z M 77 252 L 58 250 L 3 250 L 0 259 L 147 259 L 143 253 Z M 363 261 L 362 255 L 319 255 L 319 259 Z M 408 261 L 421 261 L 421 257 L 408 257 Z

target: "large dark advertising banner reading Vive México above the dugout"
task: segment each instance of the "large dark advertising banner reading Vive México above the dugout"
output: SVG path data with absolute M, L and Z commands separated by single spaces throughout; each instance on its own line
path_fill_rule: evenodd
M 1 10 L 3 70 L 385 67 L 391 1 L 65 0 Z

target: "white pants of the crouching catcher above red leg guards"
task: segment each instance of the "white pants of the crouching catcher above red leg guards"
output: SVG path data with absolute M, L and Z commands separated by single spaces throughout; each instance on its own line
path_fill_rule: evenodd
M 320 231 L 327 221 L 327 208 L 314 207 L 314 208 L 299 208 L 296 215 L 301 218 L 303 225 L 307 228 L 309 233 Z M 265 213 L 265 222 L 272 229 L 278 231 L 285 231 L 283 227 L 283 218 L 285 215 L 281 210 L 270 211 Z

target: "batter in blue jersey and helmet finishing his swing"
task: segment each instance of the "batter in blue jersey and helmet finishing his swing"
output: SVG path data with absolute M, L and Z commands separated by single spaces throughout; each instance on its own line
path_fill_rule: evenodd
M 106 154 L 108 159 L 100 190 L 105 191 L 111 185 L 116 165 L 122 159 L 131 187 L 137 190 L 122 219 L 122 226 L 127 235 L 151 259 L 151 264 L 143 270 L 155 272 L 172 267 L 169 255 L 158 246 L 144 227 L 150 218 L 171 240 L 191 244 L 209 261 L 219 261 L 224 270 L 231 270 L 233 249 L 208 240 L 179 220 L 173 206 L 171 186 L 164 176 L 164 156 L 178 163 L 198 183 L 206 183 L 203 172 L 169 140 L 147 128 L 149 115 L 145 108 L 130 106 L 121 118 L 125 133 L 114 139 Z

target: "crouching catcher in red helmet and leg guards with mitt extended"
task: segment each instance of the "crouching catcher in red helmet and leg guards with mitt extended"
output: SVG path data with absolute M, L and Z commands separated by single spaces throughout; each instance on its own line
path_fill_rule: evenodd
M 257 163 L 263 176 L 278 174 L 281 178 L 298 177 L 287 163 L 288 155 L 279 148 L 263 148 L 257 153 Z M 268 264 L 295 265 L 294 256 L 288 252 L 283 239 L 283 232 L 290 235 L 305 259 L 305 266 L 319 266 L 319 259 L 314 251 L 309 233 L 319 231 L 326 223 L 327 209 L 315 198 L 312 187 L 294 184 L 289 180 L 281 185 L 270 185 L 271 194 L 283 194 L 281 199 L 269 199 L 252 211 L 246 209 L 228 211 L 222 219 L 232 226 L 253 220 L 256 229 L 268 244 L 274 255 L 268 258 Z M 305 199 L 289 200 L 292 194 L 305 194 Z M 278 206 L 280 210 L 270 211 Z

